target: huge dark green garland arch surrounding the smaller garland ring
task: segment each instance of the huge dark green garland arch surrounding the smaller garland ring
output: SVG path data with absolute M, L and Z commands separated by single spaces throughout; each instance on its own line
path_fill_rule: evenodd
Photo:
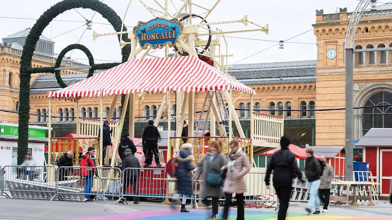
M 50 7 L 47 11 L 45 11 L 37 22 L 34 24 L 33 28 L 29 35 L 27 35 L 25 45 L 23 47 L 22 57 L 20 58 L 20 84 L 19 84 L 19 138 L 18 138 L 18 164 L 21 164 L 24 160 L 24 155 L 27 154 L 27 146 L 29 139 L 29 119 L 30 119 L 30 80 L 31 74 L 33 73 L 44 73 L 51 72 L 54 73 L 54 67 L 44 67 L 44 68 L 31 68 L 31 62 L 33 59 L 33 53 L 35 50 L 35 45 L 38 42 L 42 32 L 45 27 L 49 25 L 49 23 L 56 18 L 59 14 L 64 13 L 65 11 L 74 9 L 74 8 L 83 8 L 83 9 L 91 9 L 100 13 L 103 18 L 105 18 L 111 25 L 114 27 L 115 31 L 121 31 L 122 20 L 118 16 L 118 14 L 111 9 L 106 4 L 103 4 L 99 0 L 64 0 L 59 2 L 52 7 Z M 123 31 L 127 29 L 124 27 Z M 118 40 L 120 40 L 120 36 L 118 36 Z M 126 37 L 126 34 L 123 35 L 123 41 L 129 42 L 130 40 Z M 122 53 L 122 62 L 128 60 L 129 53 L 131 52 L 131 46 L 126 45 L 123 47 Z M 113 67 L 113 63 L 108 65 L 94 65 L 94 67 L 104 68 L 104 67 Z M 94 68 L 93 68 L 94 69 Z M 123 102 L 122 102 L 123 104 Z M 129 110 L 127 109 L 127 112 Z M 129 114 L 129 113 L 128 113 Z M 128 131 L 128 120 L 125 119 L 123 126 L 123 133 Z M 50 155 L 49 155 L 50 156 Z

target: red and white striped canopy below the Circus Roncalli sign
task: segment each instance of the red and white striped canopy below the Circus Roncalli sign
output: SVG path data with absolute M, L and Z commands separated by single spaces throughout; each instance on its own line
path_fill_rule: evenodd
M 130 60 L 75 83 L 48 97 L 92 97 L 140 92 L 229 90 L 256 94 L 252 88 L 194 56 Z

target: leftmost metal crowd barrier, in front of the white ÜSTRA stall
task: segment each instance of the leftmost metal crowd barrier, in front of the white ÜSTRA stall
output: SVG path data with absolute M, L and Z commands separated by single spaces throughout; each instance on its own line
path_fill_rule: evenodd
M 3 192 L 12 198 L 51 199 L 56 195 L 53 166 L 4 166 Z

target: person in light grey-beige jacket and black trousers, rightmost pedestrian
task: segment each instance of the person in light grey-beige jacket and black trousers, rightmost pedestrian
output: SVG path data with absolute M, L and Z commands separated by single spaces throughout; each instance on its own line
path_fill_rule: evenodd
M 321 156 L 321 160 L 323 160 L 324 170 L 323 175 L 320 177 L 320 186 L 319 186 L 319 196 L 321 203 L 324 204 L 323 212 L 328 212 L 329 205 L 329 195 L 332 188 L 332 179 L 335 177 L 334 169 L 331 165 L 327 164 L 327 157 Z

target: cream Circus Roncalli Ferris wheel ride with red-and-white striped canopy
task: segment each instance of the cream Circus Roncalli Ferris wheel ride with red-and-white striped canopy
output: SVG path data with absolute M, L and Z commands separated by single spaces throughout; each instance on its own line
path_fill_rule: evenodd
M 123 17 L 132 8 L 129 1 Z M 254 89 L 240 83 L 229 76 L 227 69 L 228 45 L 225 34 L 240 32 L 264 32 L 268 34 L 268 25 L 257 25 L 243 16 L 240 20 L 207 22 L 209 15 L 219 4 L 217 0 L 212 7 L 193 3 L 191 0 L 181 0 L 178 10 L 169 12 L 168 1 L 154 1 L 153 5 L 146 5 L 139 0 L 146 13 L 152 15 L 149 21 L 140 21 L 130 31 L 98 34 L 94 31 L 93 39 L 107 35 L 127 34 L 130 42 L 120 41 L 120 48 L 131 45 L 129 60 L 111 69 L 105 70 L 83 81 L 75 83 L 55 92 L 48 92 L 49 97 L 49 129 L 51 129 L 51 101 L 61 99 L 75 102 L 79 110 L 79 101 L 87 97 L 100 98 L 100 119 L 82 118 L 76 111 L 77 133 L 71 141 L 55 139 L 49 133 L 48 160 L 53 164 L 58 155 L 67 150 L 96 148 L 96 161 L 102 166 L 103 146 L 97 139 L 98 131 L 102 137 L 103 121 L 111 122 L 114 128 L 112 133 L 113 147 L 108 146 L 106 153 L 114 167 L 121 160 L 117 156 L 120 137 L 122 134 L 126 109 L 129 109 L 129 134 L 135 140 L 134 127 L 136 117 L 136 99 L 142 99 L 147 92 L 162 93 L 163 99 L 157 110 L 154 125 L 158 126 L 162 117 L 167 117 L 168 134 L 175 130 L 174 137 L 167 138 L 167 153 L 165 160 L 176 155 L 183 144 L 182 122 L 187 121 L 189 128 L 187 142 L 194 145 L 194 157 L 201 159 L 211 141 L 218 140 L 222 143 L 223 153 L 228 153 L 228 143 L 237 139 L 243 151 L 247 153 L 252 162 L 254 155 L 276 148 L 280 136 L 283 135 L 283 117 L 260 114 L 253 112 L 250 105 L 250 138 L 246 138 L 236 114 L 235 103 L 243 93 L 250 94 L 250 103 L 253 103 Z M 203 16 L 201 16 L 203 15 Z M 255 29 L 238 31 L 223 31 L 212 26 L 224 26 L 232 23 L 254 25 Z M 124 27 L 124 24 L 122 24 Z M 174 54 L 170 54 L 174 51 Z M 152 55 L 154 53 L 154 55 Z M 195 94 L 205 96 L 201 109 L 195 109 Z M 235 97 L 235 94 L 239 96 Z M 112 105 L 104 117 L 103 97 L 113 97 Z M 125 101 L 119 121 L 112 121 L 114 108 L 122 96 Z M 174 102 L 174 96 L 176 101 Z M 128 105 L 128 103 L 130 103 Z M 172 105 L 176 105 L 176 114 L 171 115 Z M 176 128 L 171 127 L 171 122 L 176 121 Z M 234 125 L 232 124 L 234 123 Z M 236 127 L 236 134 L 233 127 Z M 216 129 L 218 128 L 218 129 Z M 205 135 L 208 133 L 208 135 Z M 208 136 L 208 137 L 207 137 Z M 238 136 L 238 137 L 235 137 Z M 88 141 L 80 141 L 80 138 Z M 60 143 L 59 143 L 60 141 Z M 66 147 L 65 147 L 66 146 Z M 82 150 L 81 150 L 82 151 Z M 255 152 L 257 154 L 255 154 Z M 109 161 L 106 160 L 105 161 Z M 165 161 L 165 162 L 166 162 Z M 77 161 L 76 161 L 76 164 Z

